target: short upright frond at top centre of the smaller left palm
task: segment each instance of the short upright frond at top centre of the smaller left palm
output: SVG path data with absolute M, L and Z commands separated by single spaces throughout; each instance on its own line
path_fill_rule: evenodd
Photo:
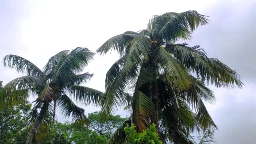
M 55 71 L 56 68 L 57 68 L 57 64 L 58 64 L 58 61 L 60 60 L 60 58 L 66 57 L 69 52 L 70 52 L 69 50 L 63 50 L 61 52 L 58 52 L 54 56 L 52 56 L 48 60 L 47 64 L 44 66 L 43 72 L 46 73 L 46 74 L 50 74 L 53 71 Z

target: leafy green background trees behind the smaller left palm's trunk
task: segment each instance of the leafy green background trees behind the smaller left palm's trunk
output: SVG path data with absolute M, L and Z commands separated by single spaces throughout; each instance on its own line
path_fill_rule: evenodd
M 28 114 L 31 104 L 22 103 L 8 110 L 0 111 L 0 143 L 24 144 L 29 133 Z M 108 116 L 103 122 L 99 112 L 89 114 L 88 126 L 75 122 L 60 123 L 56 120 L 51 126 L 36 134 L 37 144 L 107 144 L 108 137 L 126 118 L 119 115 Z M 100 131 L 102 130 L 102 131 Z

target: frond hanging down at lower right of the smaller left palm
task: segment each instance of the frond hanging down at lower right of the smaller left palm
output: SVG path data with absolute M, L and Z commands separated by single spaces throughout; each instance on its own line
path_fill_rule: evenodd
M 62 94 L 58 98 L 58 106 L 62 110 L 62 114 L 65 117 L 68 117 L 72 114 L 72 119 L 76 120 L 88 120 L 86 115 L 84 114 L 84 109 L 76 106 L 74 102 L 66 95 Z

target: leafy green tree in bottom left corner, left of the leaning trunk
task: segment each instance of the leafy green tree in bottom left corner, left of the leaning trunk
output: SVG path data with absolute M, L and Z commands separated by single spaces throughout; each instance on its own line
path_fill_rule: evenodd
M 27 130 L 26 116 L 31 108 L 28 102 L 0 110 L 0 143 L 24 143 Z

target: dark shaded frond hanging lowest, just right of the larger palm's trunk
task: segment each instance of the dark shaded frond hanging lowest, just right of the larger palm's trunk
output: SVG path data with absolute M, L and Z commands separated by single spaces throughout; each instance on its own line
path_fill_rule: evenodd
M 163 79 L 158 79 L 158 94 L 160 131 L 165 139 L 173 144 L 190 144 L 186 134 L 194 121 L 190 108 Z

